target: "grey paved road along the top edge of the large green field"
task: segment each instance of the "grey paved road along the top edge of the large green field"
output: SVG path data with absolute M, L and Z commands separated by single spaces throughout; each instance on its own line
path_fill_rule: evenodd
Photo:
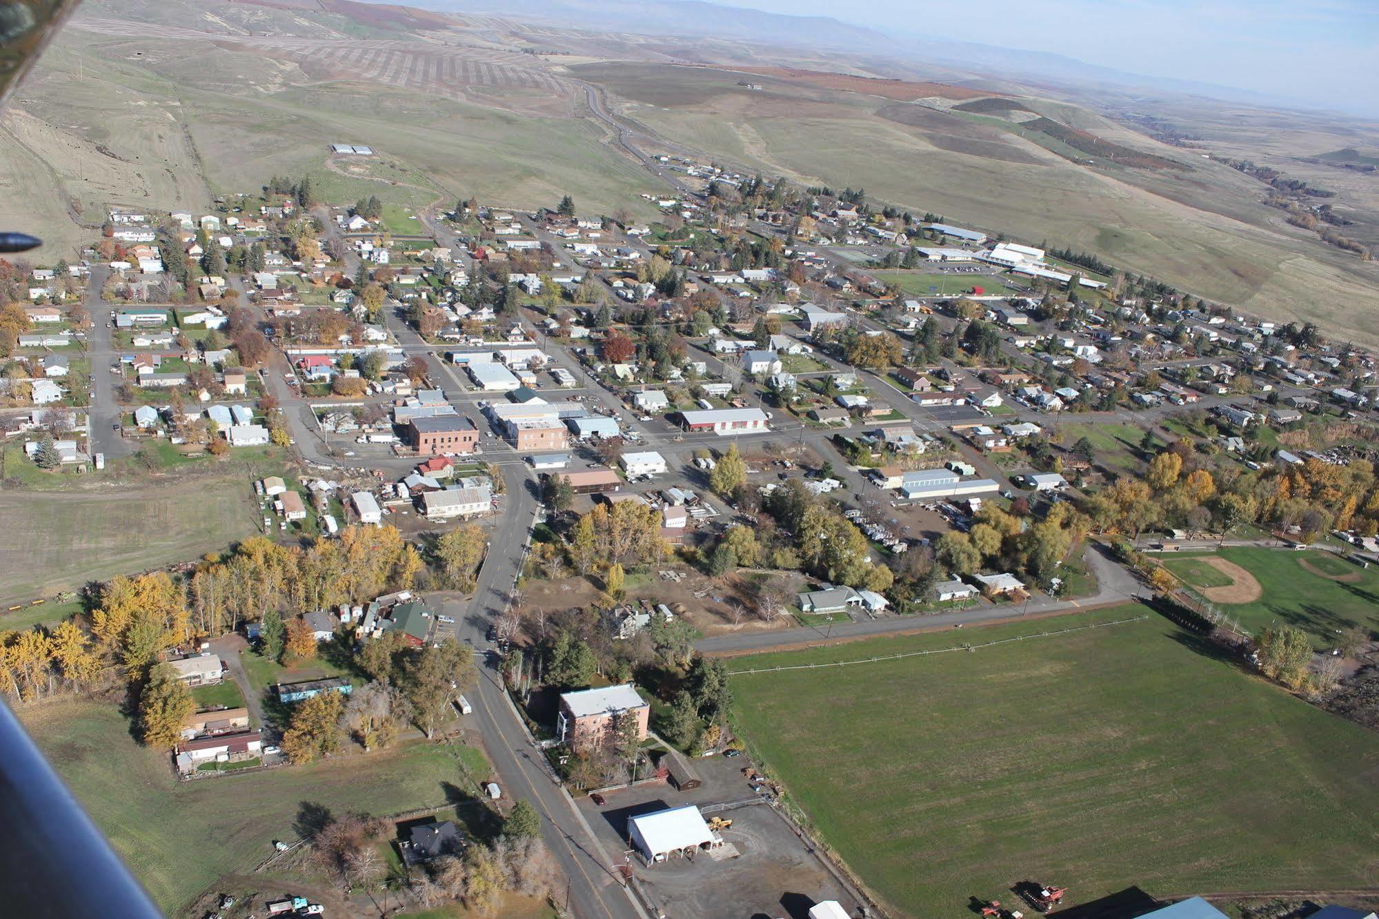
M 702 639 L 695 647 L 705 654 L 736 654 L 743 651 L 789 650 L 805 644 L 815 644 L 825 640 L 845 640 L 869 638 L 876 635 L 889 635 L 894 632 L 907 632 L 929 628 L 954 628 L 990 622 L 993 620 L 1008 620 L 1012 615 L 1076 613 L 1088 607 L 1124 603 L 1145 593 L 1138 581 L 1125 569 L 1106 556 L 1105 551 L 1094 544 L 1088 548 L 1088 560 L 1096 571 L 1096 593 L 1080 600 L 1054 600 L 1047 596 L 1031 597 L 1029 603 L 1019 606 L 978 606 L 957 613 L 939 613 L 935 615 L 889 615 L 877 620 L 862 620 L 858 622 L 844 622 L 841 625 L 825 628 L 801 628 L 781 632 L 752 632 L 745 635 L 720 635 Z

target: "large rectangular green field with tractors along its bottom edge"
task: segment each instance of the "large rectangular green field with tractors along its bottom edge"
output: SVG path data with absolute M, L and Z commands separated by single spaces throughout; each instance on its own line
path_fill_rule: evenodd
M 971 643 L 1147 613 L 967 631 Z M 958 644 L 952 633 L 735 658 L 734 671 Z M 1012 883 L 1076 901 L 1379 883 L 1379 735 L 1165 620 L 732 679 L 735 718 L 822 836 L 898 915 Z

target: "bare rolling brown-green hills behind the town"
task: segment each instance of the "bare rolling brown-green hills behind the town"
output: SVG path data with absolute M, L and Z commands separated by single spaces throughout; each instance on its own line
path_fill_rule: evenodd
M 705 7 L 654 4 L 629 17 L 643 29 L 632 33 L 614 30 L 616 10 L 596 15 L 575 0 L 451 14 L 350 0 L 91 0 L 0 117 L 0 222 L 46 235 L 40 259 L 70 257 L 110 204 L 196 208 L 303 171 L 342 197 L 536 207 L 568 192 L 636 211 L 655 179 L 592 116 L 586 83 L 651 145 L 860 186 L 1379 342 L 1379 268 L 1291 226 L 1263 204 L 1266 185 L 1162 130 L 1205 134 L 1214 155 L 1262 157 L 1336 189 L 1342 229 L 1368 244 L 1379 241 L 1379 185 L 1357 167 L 1375 149 L 1373 126 L 1020 86 L 888 57 L 876 36 L 838 32 L 851 50 L 834 50 L 816 34 L 827 21 L 742 10 L 732 15 L 757 28 L 739 34 L 783 29 L 779 43 L 725 39 L 717 21 L 701 39 L 655 34 Z M 1302 127 L 1280 127 L 1291 124 Z M 383 156 L 342 175 L 325 164 L 335 141 Z

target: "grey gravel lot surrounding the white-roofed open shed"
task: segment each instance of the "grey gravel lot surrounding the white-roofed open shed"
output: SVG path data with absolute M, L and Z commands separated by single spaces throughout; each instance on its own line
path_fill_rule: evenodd
M 702 916 L 792 916 L 805 919 L 809 907 L 837 900 L 849 912 L 858 902 L 801 840 L 792 825 L 742 774 L 746 758 L 712 756 L 694 760 L 703 785 L 678 792 L 654 782 L 604 795 L 605 803 L 576 799 L 598 843 L 621 861 L 627 853 L 629 817 L 666 807 L 698 804 L 705 818 L 721 817 L 732 827 L 720 831 L 735 857 L 716 861 L 707 853 L 694 860 L 674 858 L 647 867 L 630 856 L 636 878 L 669 919 Z

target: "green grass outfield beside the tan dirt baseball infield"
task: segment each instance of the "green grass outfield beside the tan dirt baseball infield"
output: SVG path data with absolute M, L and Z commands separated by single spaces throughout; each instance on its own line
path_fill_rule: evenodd
M 1263 596 L 1254 603 L 1220 607 L 1251 632 L 1274 624 L 1296 625 L 1313 635 L 1318 650 L 1331 646 L 1338 629 L 1351 625 L 1379 632 L 1379 569 L 1361 569 L 1328 552 L 1289 549 L 1229 546 L 1220 557 L 1248 570 L 1263 588 Z

